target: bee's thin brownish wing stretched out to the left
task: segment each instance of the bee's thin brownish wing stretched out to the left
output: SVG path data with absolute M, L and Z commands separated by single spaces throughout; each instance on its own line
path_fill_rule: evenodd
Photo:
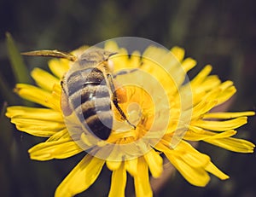
M 75 55 L 72 55 L 66 52 L 61 52 L 59 50 L 34 50 L 34 51 L 21 53 L 21 55 L 64 58 L 64 59 L 67 59 L 68 61 L 76 61 L 78 59 L 77 56 Z

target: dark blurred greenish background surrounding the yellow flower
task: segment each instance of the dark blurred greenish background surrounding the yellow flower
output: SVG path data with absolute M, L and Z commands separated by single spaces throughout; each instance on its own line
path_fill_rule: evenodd
M 44 139 L 18 132 L 4 117 L 7 105 L 23 103 L 12 92 L 17 79 L 10 67 L 5 32 L 12 34 L 20 51 L 69 51 L 124 36 L 148 38 L 166 48 L 178 45 L 198 61 L 189 76 L 210 63 L 212 73 L 235 82 L 235 98 L 221 109 L 255 110 L 255 8 L 254 0 L 0 0 L 0 196 L 53 196 L 62 178 L 83 157 L 29 159 L 27 149 Z M 33 67 L 47 70 L 47 58 L 26 58 L 27 70 Z M 256 142 L 255 120 L 250 118 L 238 136 Z M 230 153 L 205 143 L 199 149 L 210 154 L 230 179 L 212 177 L 206 188 L 196 188 L 175 173 L 155 196 L 256 196 L 255 154 Z M 110 173 L 104 169 L 79 196 L 107 196 L 109 181 Z

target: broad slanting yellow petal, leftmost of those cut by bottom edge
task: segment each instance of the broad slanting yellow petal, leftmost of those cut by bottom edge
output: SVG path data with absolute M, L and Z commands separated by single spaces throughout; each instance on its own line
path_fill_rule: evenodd
M 87 154 L 56 189 L 55 197 L 72 197 L 89 188 L 96 181 L 104 163 L 104 160 Z

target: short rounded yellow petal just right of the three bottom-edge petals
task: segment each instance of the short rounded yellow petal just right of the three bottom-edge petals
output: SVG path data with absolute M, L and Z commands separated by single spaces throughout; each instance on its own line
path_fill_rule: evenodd
M 154 150 L 150 150 L 144 155 L 144 159 L 148 163 L 149 170 L 153 177 L 160 177 L 163 171 L 163 159 L 160 154 L 156 153 Z

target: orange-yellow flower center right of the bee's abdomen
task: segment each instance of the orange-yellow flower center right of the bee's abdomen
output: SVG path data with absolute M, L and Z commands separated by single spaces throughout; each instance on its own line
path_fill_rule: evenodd
M 136 85 L 126 85 L 125 90 L 128 99 L 125 103 L 121 103 L 120 107 L 136 129 L 125 123 L 119 111 L 113 107 L 113 130 L 108 142 L 135 142 L 143 137 L 154 123 L 155 104 L 148 92 Z

